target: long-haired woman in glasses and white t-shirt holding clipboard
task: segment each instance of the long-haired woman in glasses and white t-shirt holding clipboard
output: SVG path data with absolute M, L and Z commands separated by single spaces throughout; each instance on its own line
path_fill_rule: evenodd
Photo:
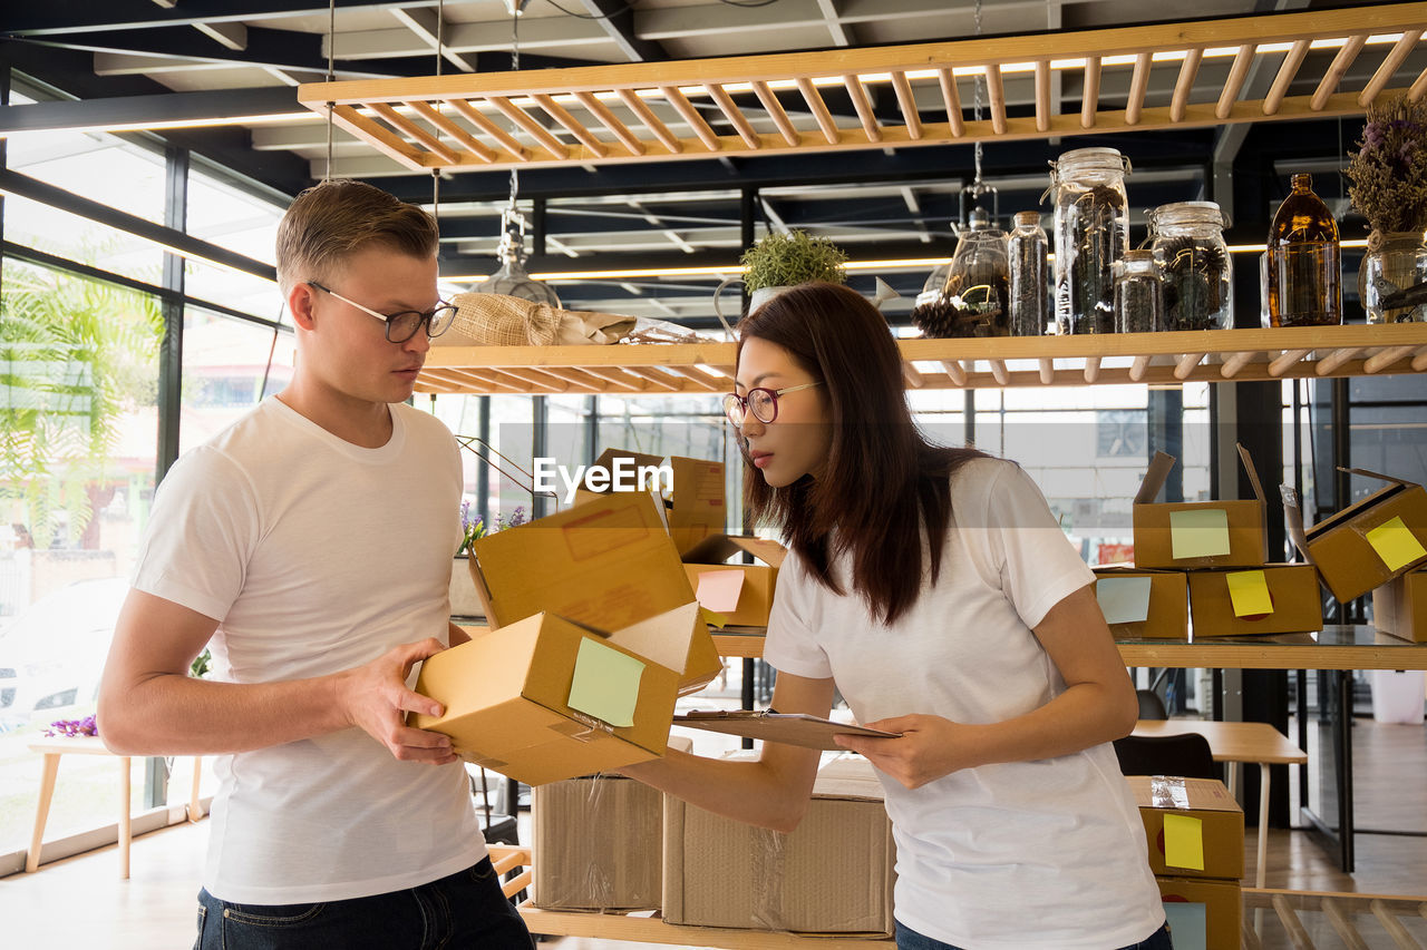
M 929 445 L 886 322 L 806 284 L 739 327 L 725 399 L 751 515 L 789 546 L 763 658 L 773 708 L 859 722 L 898 846 L 898 947 L 1170 947 L 1143 826 L 1107 745 L 1134 690 L 1093 575 L 1012 462 Z M 625 772 L 699 807 L 792 830 L 818 753 L 669 752 Z

